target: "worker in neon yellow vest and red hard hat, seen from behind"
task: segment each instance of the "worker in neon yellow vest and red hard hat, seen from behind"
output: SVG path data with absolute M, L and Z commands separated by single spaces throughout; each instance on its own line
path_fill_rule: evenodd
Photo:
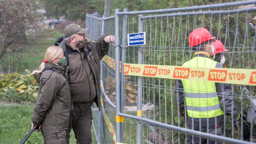
M 205 28 L 198 28 L 189 36 L 189 46 L 195 52 L 195 57 L 185 62 L 184 67 L 222 68 L 220 64 L 223 51 L 226 49 L 215 42 L 210 32 Z M 215 45 L 215 47 L 214 47 Z M 223 44 L 222 44 L 223 45 Z M 217 51 L 215 51 L 215 49 Z M 215 53 L 221 55 L 214 61 Z M 220 54 L 221 53 L 221 54 Z M 222 60 L 223 62 L 223 60 Z M 229 114 L 231 120 L 240 130 L 238 110 L 232 98 L 230 84 L 211 81 L 176 80 L 175 98 L 178 110 L 186 118 L 186 128 L 205 133 L 224 136 L 224 113 Z M 215 141 L 196 136 L 189 136 L 189 143 L 215 143 Z M 218 143 L 218 142 L 217 142 Z

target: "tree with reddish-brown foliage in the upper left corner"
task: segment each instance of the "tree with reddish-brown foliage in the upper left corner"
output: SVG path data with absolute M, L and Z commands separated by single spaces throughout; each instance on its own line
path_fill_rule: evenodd
M 37 9 L 34 0 L 0 0 L 0 60 L 40 39 Z

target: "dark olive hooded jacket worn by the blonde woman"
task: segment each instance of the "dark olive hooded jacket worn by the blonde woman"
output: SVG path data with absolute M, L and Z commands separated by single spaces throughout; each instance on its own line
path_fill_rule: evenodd
M 46 68 L 34 78 L 39 83 L 32 122 L 42 125 L 43 136 L 68 129 L 71 98 L 67 81 L 68 66 L 46 63 Z

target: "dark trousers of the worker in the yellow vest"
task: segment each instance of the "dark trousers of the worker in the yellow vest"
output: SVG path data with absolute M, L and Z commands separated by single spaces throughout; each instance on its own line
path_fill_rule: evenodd
M 192 129 L 192 126 L 187 125 L 187 128 L 190 130 L 200 131 L 199 126 L 194 126 L 194 129 Z M 207 131 L 207 127 L 202 126 L 201 132 L 215 135 L 215 126 L 209 126 L 209 131 Z M 216 135 L 224 136 L 224 124 L 220 124 L 219 126 L 217 126 Z M 189 144 L 206 144 L 206 143 L 207 144 L 215 144 L 215 142 L 216 142 L 216 144 L 222 144 L 222 142 L 218 142 L 218 141 L 214 141 L 214 140 L 210 140 L 210 139 L 207 142 L 207 139 L 205 139 L 205 138 L 200 138 L 200 137 L 196 137 L 196 136 L 192 136 L 192 135 L 189 135 L 188 138 L 189 138 Z

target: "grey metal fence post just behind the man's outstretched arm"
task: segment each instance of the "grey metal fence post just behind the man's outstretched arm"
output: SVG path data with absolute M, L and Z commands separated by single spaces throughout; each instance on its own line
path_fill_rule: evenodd
M 102 15 L 102 18 L 104 18 L 104 15 Z M 101 26 L 101 36 L 104 34 L 104 20 L 102 20 L 102 26 Z M 100 80 L 103 78 L 103 70 L 102 70 L 102 60 L 100 61 Z M 102 80 L 103 81 L 103 80 Z M 100 86 L 101 87 L 101 86 Z M 104 96 L 101 93 L 101 98 L 104 101 Z M 100 105 L 101 109 L 99 111 L 99 121 L 98 121 L 98 131 L 97 131 L 97 136 L 98 136 L 98 143 L 101 143 L 101 136 L 104 138 L 104 118 L 103 118 L 103 110 L 102 106 Z

